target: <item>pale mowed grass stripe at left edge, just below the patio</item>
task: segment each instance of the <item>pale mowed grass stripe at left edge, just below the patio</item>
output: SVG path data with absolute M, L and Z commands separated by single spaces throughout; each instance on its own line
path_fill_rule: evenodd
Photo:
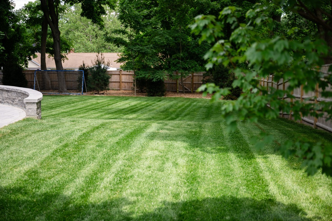
M 11 131 L 7 135 L 9 137 L 8 143 L 6 142 L 8 145 L 4 143 L 6 148 L 1 151 L 1 161 L 4 163 L 1 171 L 5 178 L 11 177 L 15 180 L 16 177 L 23 175 L 25 171 L 38 165 L 44 158 L 57 150 L 59 146 L 63 145 L 66 142 L 63 139 L 64 137 L 71 138 L 75 136 L 74 134 L 77 136 L 81 130 L 77 123 L 42 122 L 36 124 L 36 120 L 33 119 L 25 119 L 23 122 L 26 123 L 27 127 L 30 127 L 32 132 L 11 136 L 16 134 L 14 130 Z M 17 128 L 17 130 L 20 130 L 20 128 Z M 31 136 L 32 133 L 37 133 L 38 136 Z M 19 143 L 15 139 L 12 140 L 14 137 L 17 137 Z M 11 145 L 13 142 L 15 144 Z

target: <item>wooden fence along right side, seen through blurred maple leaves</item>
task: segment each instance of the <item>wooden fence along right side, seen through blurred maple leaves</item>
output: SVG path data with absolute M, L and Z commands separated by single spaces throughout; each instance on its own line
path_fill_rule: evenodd
M 320 72 L 324 73 L 325 76 L 331 75 L 331 73 L 328 73 L 329 66 L 332 64 L 328 65 L 323 65 L 320 68 Z M 271 90 L 269 88 L 274 87 L 276 89 L 287 89 L 288 88 L 288 81 L 284 79 L 280 79 L 279 81 L 274 81 L 273 75 L 269 76 L 267 78 L 261 79 L 260 84 L 262 86 L 266 86 L 268 90 Z M 325 88 L 326 91 L 332 91 L 331 85 L 329 85 L 327 88 Z M 295 88 L 291 93 L 295 98 L 290 98 L 288 96 L 281 97 L 280 99 L 286 100 L 288 102 L 294 102 L 296 100 L 300 102 L 305 102 L 305 103 L 319 103 L 322 101 L 326 102 L 332 102 L 331 97 L 323 97 L 321 96 L 322 88 L 319 87 L 319 85 L 316 85 L 315 91 L 309 91 L 305 92 L 303 90 L 303 85 L 301 85 L 298 88 Z M 288 118 L 290 120 L 294 120 L 293 117 L 293 112 L 290 113 L 280 113 L 280 117 L 283 118 Z M 312 116 L 302 116 L 301 120 L 298 120 L 299 123 L 309 125 L 313 128 L 318 128 L 318 129 L 323 129 L 329 132 L 332 132 L 332 121 L 327 120 L 327 113 L 323 113 L 323 117 L 319 117 L 318 119 Z

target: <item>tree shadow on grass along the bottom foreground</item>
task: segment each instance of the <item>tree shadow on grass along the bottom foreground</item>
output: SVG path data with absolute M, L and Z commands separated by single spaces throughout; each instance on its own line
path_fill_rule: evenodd
M 90 203 L 77 198 L 63 194 L 38 194 L 24 188 L 0 188 L 0 217 L 2 220 L 310 220 L 296 205 L 286 205 L 273 199 L 220 196 L 164 201 L 157 208 L 146 209 L 141 199 L 129 201 L 113 197 Z

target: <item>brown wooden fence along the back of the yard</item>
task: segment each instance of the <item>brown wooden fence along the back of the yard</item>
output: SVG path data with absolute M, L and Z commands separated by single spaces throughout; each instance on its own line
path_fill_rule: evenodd
M 34 75 L 35 70 L 25 70 L 25 77 L 28 81 L 28 88 L 34 88 Z M 183 84 L 186 92 L 196 91 L 203 83 L 203 75 L 205 72 L 196 72 L 183 79 Z M 109 88 L 113 90 L 133 90 L 134 89 L 134 73 L 133 71 L 108 71 L 111 76 Z M 179 75 L 174 72 L 173 75 Z M 2 84 L 2 71 L 0 71 L 0 84 Z M 167 91 L 182 91 L 182 85 L 180 79 L 172 80 L 167 75 L 165 80 L 165 86 Z

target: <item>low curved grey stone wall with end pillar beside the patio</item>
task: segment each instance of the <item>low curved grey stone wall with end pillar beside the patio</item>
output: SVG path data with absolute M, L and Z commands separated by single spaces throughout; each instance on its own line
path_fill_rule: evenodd
M 23 109 L 27 117 L 41 119 L 42 93 L 30 88 L 0 85 L 0 104 Z

